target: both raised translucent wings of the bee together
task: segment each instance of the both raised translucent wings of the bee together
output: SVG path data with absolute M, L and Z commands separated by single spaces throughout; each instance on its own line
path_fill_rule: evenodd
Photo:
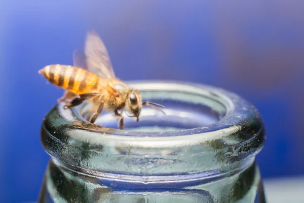
M 86 69 L 100 78 L 114 79 L 115 73 L 106 47 L 98 34 L 90 30 L 85 41 L 85 51 L 73 52 L 73 65 Z

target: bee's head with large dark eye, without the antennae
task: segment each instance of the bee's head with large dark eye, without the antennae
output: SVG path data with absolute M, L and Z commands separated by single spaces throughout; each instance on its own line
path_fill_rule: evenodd
M 136 117 L 139 120 L 139 114 L 142 106 L 141 95 L 137 90 L 131 90 L 127 99 L 127 111 L 132 114 L 131 117 Z

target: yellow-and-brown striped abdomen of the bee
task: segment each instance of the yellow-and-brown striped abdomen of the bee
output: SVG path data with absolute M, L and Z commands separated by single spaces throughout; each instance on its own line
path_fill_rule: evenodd
M 39 71 L 50 83 L 75 94 L 96 90 L 98 77 L 86 70 L 70 65 L 48 65 Z

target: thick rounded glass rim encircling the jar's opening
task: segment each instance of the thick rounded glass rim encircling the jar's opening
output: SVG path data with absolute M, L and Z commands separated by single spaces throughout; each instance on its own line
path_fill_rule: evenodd
M 224 165 L 227 166 L 230 161 L 254 156 L 263 146 L 264 126 L 260 114 L 251 103 L 233 92 L 209 85 L 181 84 L 176 81 L 134 81 L 128 84 L 139 91 L 196 93 L 220 103 L 225 108 L 225 115 L 217 122 L 191 129 L 158 132 L 119 130 L 88 123 L 81 117 L 80 107 L 63 109 L 64 104 L 59 103 L 45 118 L 42 127 L 41 139 L 46 151 L 58 160 L 65 159 L 62 151 L 54 152 L 54 148 L 51 149 L 50 140 L 66 147 L 94 153 L 102 153 L 105 148 L 111 148 L 106 153 L 113 156 L 176 156 L 184 155 L 185 151 L 202 155 L 222 151 L 225 153 Z M 82 126 L 79 126 L 79 123 Z M 121 151 L 113 151 L 113 148 L 120 148 Z M 129 154 L 130 148 L 133 150 L 132 155 Z M 170 153 L 167 153 L 168 149 Z M 104 154 L 100 154 L 101 156 L 104 157 Z M 230 156 L 237 158 L 227 158 Z M 74 160 L 65 159 L 63 162 L 77 165 Z M 224 165 L 209 169 L 222 168 Z M 205 167 L 204 170 L 206 169 Z M 101 168 L 93 170 L 98 171 Z M 101 171 L 107 172 L 104 167 Z

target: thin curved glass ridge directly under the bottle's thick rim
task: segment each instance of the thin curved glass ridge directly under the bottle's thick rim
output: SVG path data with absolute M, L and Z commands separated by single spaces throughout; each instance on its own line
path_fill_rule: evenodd
M 137 175 L 125 175 L 125 174 L 111 174 L 86 170 L 77 166 L 71 166 L 62 163 L 56 159 L 52 160 L 52 164 L 60 168 L 60 170 L 66 173 L 78 174 L 82 176 L 90 176 L 102 180 L 102 184 L 112 185 L 115 184 L 119 187 L 131 187 L 143 188 L 148 186 L 149 188 L 160 187 L 176 187 L 180 188 L 183 185 L 191 186 L 198 183 L 204 184 L 216 180 L 220 180 L 227 177 L 232 177 L 238 173 L 242 173 L 254 163 L 254 157 L 251 159 L 242 160 L 237 163 L 231 164 L 229 167 L 220 168 L 214 171 L 204 171 L 196 174 L 180 174 L 180 175 L 163 175 L 163 176 L 140 176 Z

